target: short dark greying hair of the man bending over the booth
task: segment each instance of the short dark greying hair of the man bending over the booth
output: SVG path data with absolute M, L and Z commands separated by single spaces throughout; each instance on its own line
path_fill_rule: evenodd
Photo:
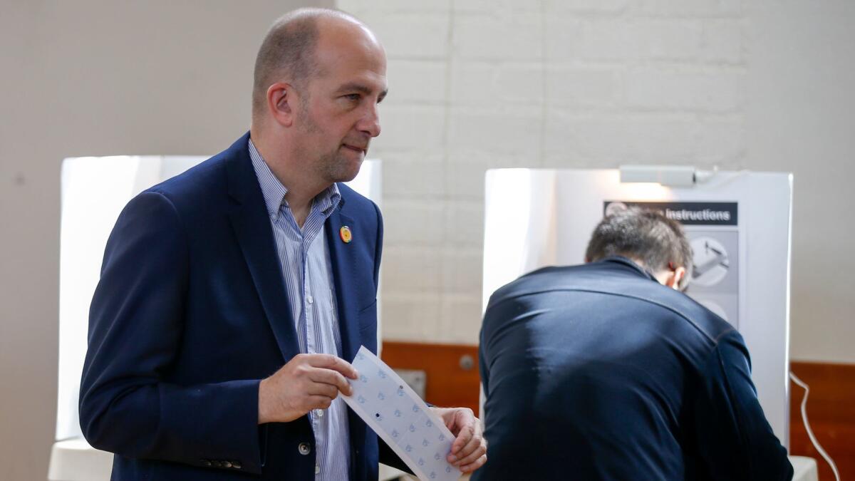
M 652 272 L 685 267 L 681 290 L 692 277 L 692 246 L 680 223 L 659 211 L 630 207 L 605 217 L 593 230 L 585 258 L 596 262 L 609 256 L 638 260 Z

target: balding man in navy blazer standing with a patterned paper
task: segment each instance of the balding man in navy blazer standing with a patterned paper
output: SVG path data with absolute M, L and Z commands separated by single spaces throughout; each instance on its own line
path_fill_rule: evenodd
M 80 388 L 114 479 L 368 480 L 379 457 L 396 464 L 339 397 L 357 377 L 345 359 L 376 352 L 383 235 L 377 206 L 339 182 L 380 134 L 385 95 L 367 27 L 292 12 L 259 50 L 250 133 L 122 211 Z M 457 436 L 449 459 L 481 466 L 480 421 L 435 409 Z

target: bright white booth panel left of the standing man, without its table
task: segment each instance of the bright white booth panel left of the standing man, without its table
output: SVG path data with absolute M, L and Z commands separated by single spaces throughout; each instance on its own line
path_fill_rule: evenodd
M 89 304 L 104 246 L 134 195 L 205 157 L 74 157 L 62 162 L 56 439 L 83 436 L 77 413 Z

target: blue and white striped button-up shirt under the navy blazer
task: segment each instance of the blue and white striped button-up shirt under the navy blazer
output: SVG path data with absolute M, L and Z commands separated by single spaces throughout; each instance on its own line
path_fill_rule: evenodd
M 341 356 L 339 315 L 335 304 L 333 270 L 323 229 L 327 217 L 339 205 L 339 187 L 333 184 L 312 201 L 303 229 L 297 225 L 285 200 L 288 188 L 270 171 L 250 140 L 250 157 L 262 187 L 276 253 L 282 268 L 288 304 L 297 328 L 300 352 Z M 347 406 L 341 397 L 327 409 L 309 413 L 315 431 L 315 481 L 349 478 L 351 458 Z

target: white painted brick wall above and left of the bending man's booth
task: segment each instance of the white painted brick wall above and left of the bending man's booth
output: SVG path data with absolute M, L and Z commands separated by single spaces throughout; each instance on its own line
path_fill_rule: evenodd
M 484 172 L 746 156 L 745 0 L 339 0 L 389 56 L 389 339 L 477 342 Z

